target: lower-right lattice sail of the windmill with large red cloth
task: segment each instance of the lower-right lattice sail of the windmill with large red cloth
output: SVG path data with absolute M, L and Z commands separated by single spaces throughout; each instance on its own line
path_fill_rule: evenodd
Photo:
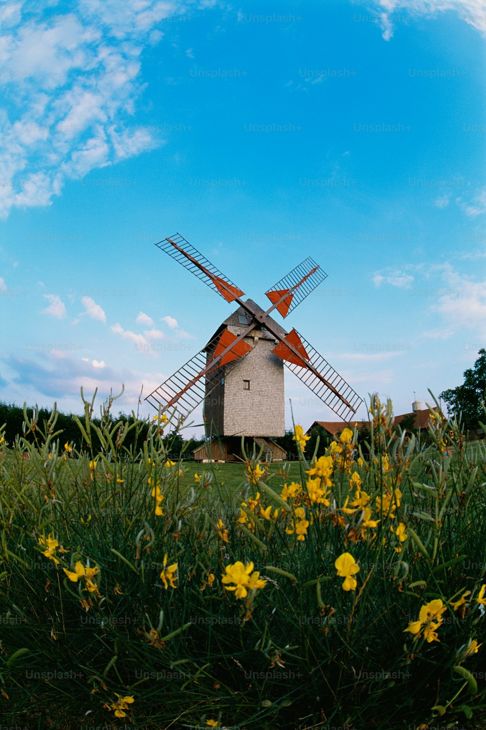
M 295 329 L 272 352 L 339 418 L 349 421 L 358 410 L 363 399 Z

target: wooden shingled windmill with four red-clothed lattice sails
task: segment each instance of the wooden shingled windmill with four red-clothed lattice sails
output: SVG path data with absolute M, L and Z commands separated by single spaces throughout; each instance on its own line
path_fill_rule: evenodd
M 288 332 L 270 317 L 274 310 L 287 317 L 327 277 L 312 258 L 266 291 L 271 306 L 262 310 L 244 301 L 244 292 L 180 234 L 155 245 L 239 308 L 146 401 L 162 413 L 174 412 L 182 423 L 204 400 L 207 437 L 218 437 L 209 449 L 212 458 L 234 456 L 242 436 L 275 456 L 271 439 L 285 434 L 284 365 L 339 418 L 352 418 L 362 400 L 358 393 L 296 329 Z

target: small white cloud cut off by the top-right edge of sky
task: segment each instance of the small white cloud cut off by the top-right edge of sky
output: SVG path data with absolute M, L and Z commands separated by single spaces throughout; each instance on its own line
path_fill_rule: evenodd
M 410 15 L 436 15 L 438 12 L 453 10 L 461 20 L 486 34 L 486 11 L 483 0 L 379 0 L 374 1 L 379 15 L 379 24 L 385 41 L 393 37 L 393 19 L 398 12 Z

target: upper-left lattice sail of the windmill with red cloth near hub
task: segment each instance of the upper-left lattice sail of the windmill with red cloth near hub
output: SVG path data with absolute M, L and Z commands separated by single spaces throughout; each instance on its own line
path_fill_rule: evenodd
M 175 234 L 155 244 L 164 253 L 174 258 L 185 269 L 188 269 L 194 276 L 204 281 L 213 291 L 220 294 L 226 301 L 234 301 L 239 296 L 244 296 L 244 291 L 239 289 L 231 279 L 225 277 L 216 266 L 213 266 L 207 258 L 190 245 L 180 234 Z

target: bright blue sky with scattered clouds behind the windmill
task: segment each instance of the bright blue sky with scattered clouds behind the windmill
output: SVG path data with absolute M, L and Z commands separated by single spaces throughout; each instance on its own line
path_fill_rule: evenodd
M 285 326 L 363 397 L 407 412 L 462 382 L 486 336 L 482 2 L 0 18 L 0 399 L 80 412 L 124 383 L 136 410 L 195 355 L 231 305 L 154 246 L 175 231 L 261 304 L 315 258 Z M 333 420 L 292 374 L 286 397 Z

